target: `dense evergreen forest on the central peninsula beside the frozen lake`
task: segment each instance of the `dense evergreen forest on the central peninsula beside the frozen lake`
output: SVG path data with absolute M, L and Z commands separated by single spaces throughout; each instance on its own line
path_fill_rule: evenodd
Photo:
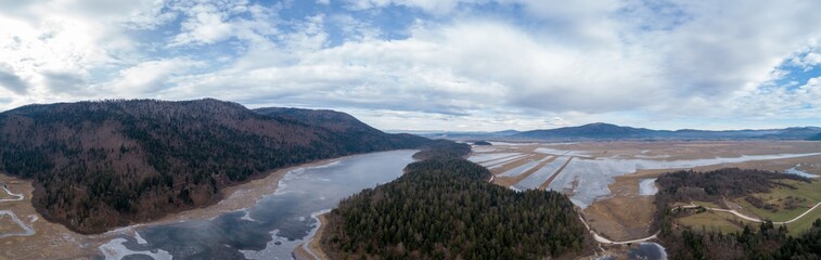
M 450 153 L 437 153 L 448 155 Z M 514 192 L 453 156 L 408 165 L 328 214 L 321 244 L 332 259 L 544 259 L 592 252 L 570 200 Z

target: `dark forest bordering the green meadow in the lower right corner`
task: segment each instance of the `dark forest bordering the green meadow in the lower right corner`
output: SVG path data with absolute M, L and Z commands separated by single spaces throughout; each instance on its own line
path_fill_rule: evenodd
M 752 193 L 766 193 L 779 180 L 809 179 L 772 171 L 720 169 L 705 173 L 678 171 L 658 178 L 662 186 L 656 194 L 662 230 L 659 239 L 671 259 L 821 259 L 821 220 L 798 237 L 787 235 L 783 225 L 761 223 L 758 229 L 745 226 L 742 232 L 722 234 L 688 226 L 676 226 L 674 219 L 688 211 L 672 210 L 675 203 L 692 200 L 714 202 L 737 198 Z

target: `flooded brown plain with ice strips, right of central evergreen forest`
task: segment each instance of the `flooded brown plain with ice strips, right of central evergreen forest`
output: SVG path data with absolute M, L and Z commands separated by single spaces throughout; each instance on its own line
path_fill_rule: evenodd
M 632 240 L 655 232 L 650 230 L 655 216 L 654 195 L 658 192 L 655 179 L 664 172 L 739 167 L 811 178 L 821 174 L 821 143 L 818 142 L 493 144 L 474 152 L 472 158 L 495 153 L 515 154 L 490 165 L 495 183 L 513 190 L 564 193 L 579 207 L 591 229 L 612 240 Z M 534 164 L 533 156 L 547 156 L 547 160 Z M 550 160 L 553 157 L 555 159 Z M 636 250 L 633 256 L 654 259 L 659 255 L 652 252 L 652 245 L 641 246 L 643 249 Z

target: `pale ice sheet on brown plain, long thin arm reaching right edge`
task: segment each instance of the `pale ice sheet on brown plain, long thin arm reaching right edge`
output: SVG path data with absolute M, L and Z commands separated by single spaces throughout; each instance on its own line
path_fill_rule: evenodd
M 614 182 L 615 177 L 633 173 L 641 169 L 690 169 L 701 166 L 710 166 L 719 164 L 734 164 L 752 160 L 784 159 L 806 156 L 821 155 L 821 153 L 811 154 L 781 154 L 781 155 L 743 155 L 731 158 L 709 158 L 709 159 L 691 159 L 691 160 L 651 160 L 651 159 L 614 159 L 596 158 L 586 159 L 576 158 L 567 165 L 562 174 L 560 174 L 549 188 L 564 191 L 574 187 L 574 180 L 578 180 L 578 185 L 570 197 L 577 206 L 587 208 L 596 198 L 608 196 L 611 194 L 607 185 Z

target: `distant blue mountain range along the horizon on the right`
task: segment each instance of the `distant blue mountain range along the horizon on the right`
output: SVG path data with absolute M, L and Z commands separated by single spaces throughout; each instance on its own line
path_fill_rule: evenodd
M 499 132 L 435 132 L 422 134 L 428 138 L 454 140 L 821 140 L 821 128 L 794 127 L 766 130 L 652 130 L 595 122 L 578 127 L 564 127 L 531 131 Z

